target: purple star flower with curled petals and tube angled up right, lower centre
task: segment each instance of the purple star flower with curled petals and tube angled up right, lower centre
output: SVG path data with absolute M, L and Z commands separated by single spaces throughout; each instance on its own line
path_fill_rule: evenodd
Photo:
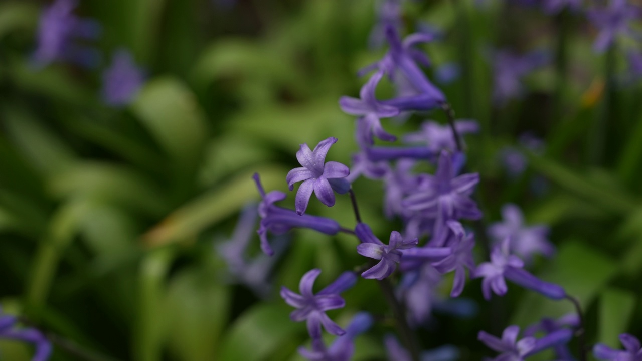
M 342 328 L 327 317 L 325 311 L 343 308 L 345 301 L 339 294 L 354 286 L 357 279 L 353 272 L 343 272 L 336 281 L 317 294 L 313 294 L 312 287 L 320 273 L 320 269 L 313 269 L 301 277 L 300 295 L 284 286 L 281 287 L 281 297 L 287 304 L 297 308 L 290 313 L 290 319 L 294 322 L 306 321 L 308 333 L 313 340 L 320 339 L 322 325 L 325 331 L 333 335 L 341 336 L 345 333 Z

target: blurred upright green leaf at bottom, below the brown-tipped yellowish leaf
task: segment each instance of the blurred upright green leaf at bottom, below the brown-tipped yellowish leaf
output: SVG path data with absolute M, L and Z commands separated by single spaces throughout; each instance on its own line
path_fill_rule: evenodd
M 169 281 L 169 346 L 177 360 L 215 360 L 221 329 L 229 317 L 229 286 L 209 269 L 184 270 Z

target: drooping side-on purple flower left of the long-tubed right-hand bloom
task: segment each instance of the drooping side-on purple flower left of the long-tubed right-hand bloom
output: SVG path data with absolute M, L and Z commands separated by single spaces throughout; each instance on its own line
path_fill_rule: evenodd
M 473 260 L 475 238 L 473 233 L 466 234 L 464 227 L 459 222 L 451 220 L 447 222 L 447 225 L 452 232 L 452 236 L 446 242 L 446 246 L 451 249 L 451 254 L 444 260 L 434 263 L 434 266 L 441 273 L 455 271 L 455 280 L 450 296 L 458 297 L 464 291 L 466 269 L 469 269 L 470 272 L 475 269 Z

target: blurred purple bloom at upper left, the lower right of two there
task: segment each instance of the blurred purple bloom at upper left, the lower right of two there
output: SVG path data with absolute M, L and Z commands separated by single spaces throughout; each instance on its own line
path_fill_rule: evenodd
M 129 51 L 114 53 L 112 65 L 103 73 L 103 100 L 114 106 L 131 103 L 143 86 L 143 72 L 134 63 Z

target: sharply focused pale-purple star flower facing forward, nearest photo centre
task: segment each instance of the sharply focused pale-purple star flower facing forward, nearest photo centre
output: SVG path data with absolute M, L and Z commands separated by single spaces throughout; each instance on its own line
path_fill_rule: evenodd
M 320 141 L 312 151 L 303 143 L 297 152 L 297 159 L 303 167 L 288 172 L 286 180 L 290 190 L 294 189 L 296 182 L 303 181 L 295 200 L 295 208 L 299 215 L 306 211 L 313 190 L 325 206 L 332 207 L 334 191 L 345 193 L 350 189 L 350 183 L 343 179 L 350 174 L 349 168 L 338 162 L 325 162 L 325 155 L 334 143 L 336 138 L 329 137 Z

